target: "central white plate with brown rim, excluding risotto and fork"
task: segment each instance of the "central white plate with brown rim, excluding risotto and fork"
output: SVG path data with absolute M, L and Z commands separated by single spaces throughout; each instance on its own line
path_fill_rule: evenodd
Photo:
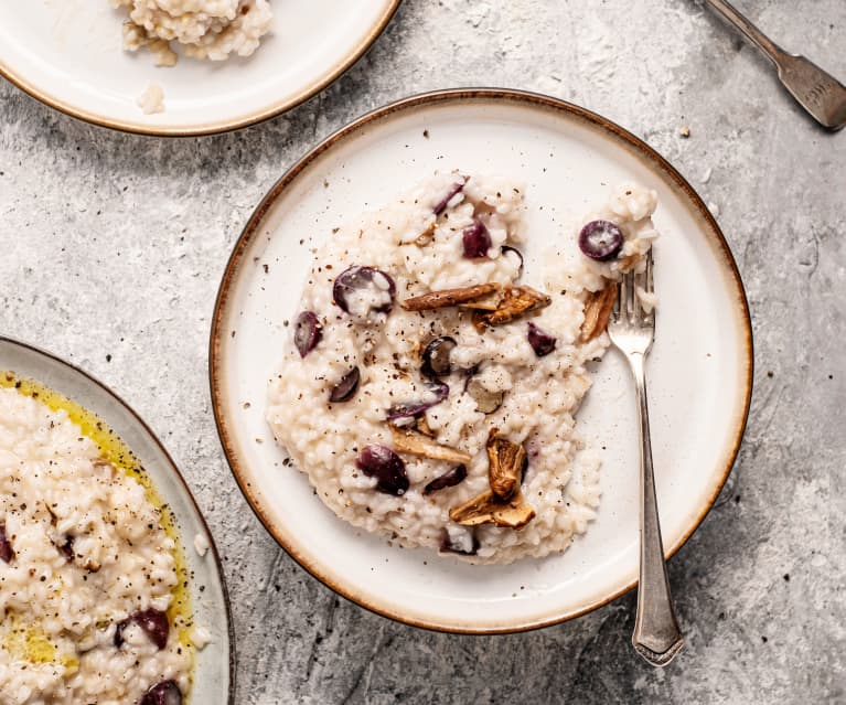
M 609 351 L 579 412 L 602 450 L 598 520 L 563 555 L 470 566 L 392 548 L 343 523 L 282 464 L 265 415 L 310 248 L 332 227 L 390 200 L 433 170 L 526 184 L 525 279 L 558 223 L 634 179 L 658 192 L 661 297 L 649 359 L 654 458 L 667 554 L 693 533 L 728 477 L 748 412 L 752 348 L 742 285 L 707 209 L 633 136 L 581 108 L 504 90 L 430 94 L 388 106 L 329 138 L 258 206 L 218 293 L 211 382 L 218 429 L 242 490 L 280 544 L 314 576 L 379 613 L 462 632 L 515 631 L 593 609 L 631 588 L 638 569 L 638 436 L 632 383 Z

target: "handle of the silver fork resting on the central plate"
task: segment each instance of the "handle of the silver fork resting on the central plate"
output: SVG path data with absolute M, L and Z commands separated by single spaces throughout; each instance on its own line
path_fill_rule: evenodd
M 666 665 L 678 653 L 684 639 L 670 597 L 670 580 L 661 542 L 644 355 L 629 355 L 629 362 L 634 375 L 638 417 L 641 423 L 641 567 L 632 644 L 653 665 Z

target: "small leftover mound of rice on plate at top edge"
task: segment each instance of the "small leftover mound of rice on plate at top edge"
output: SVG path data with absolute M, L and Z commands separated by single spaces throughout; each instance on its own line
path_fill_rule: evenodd
M 186 56 L 224 61 L 249 56 L 270 31 L 274 13 L 268 0 L 109 0 L 127 8 L 124 47 L 147 46 L 160 66 L 172 66 L 180 44 Z

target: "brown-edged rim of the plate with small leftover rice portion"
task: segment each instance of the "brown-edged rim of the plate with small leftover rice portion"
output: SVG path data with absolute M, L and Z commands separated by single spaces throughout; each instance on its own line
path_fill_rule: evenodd
M 350 68 L 352 68 L 360 58 L 367 53 L 373 46 L 376 40 L 382 36 L 383 32 L 387 29 L 390 20 L 396 14 L 403 0 L 384 0 L 385 9 L 382 12 L 379 19 L 367 31 L 356 46 L 341 61 L 335 62 L 331 68 L 325 71 L 319 78 L 311 82 L 306 88 L 296 93 L 293 96 L 289 96 L 282 100 L 277 100 L 269 106 L 259 110 L 254 110 L 245 116 L 231 118 L 226 120 L 215 120 L 212 122 L 190 125 L 183 127 L 173 127 L 168 125 L 147 125 L 138 120 L 119 120 L 109 118 L 107 116 L 98 115 L 90 110 L 86 110 L 84 107 L 77 107 L 65 100 L 61 100 L 47 90 L 41 89 L 33 83 L 25 81 L 19 72 L 12 70 L 8 62 L 0 55 L 0 76 L 9 81 L 13 86 L 20 88 L 30 97 L 35 98 L 40 103 L 46 105 L 49 108 L 64 113 L 65 115 L 88 122 L 89 125 L 96 125 L 97 127 L 105 127 L 118 132 L 127 132 L 129 135 L 142 135 L 146 137 L 202 137 L 207 135 L 221 135 L 224 132 L 232 132 L 235 130 L 258 125 L 265 120 L 277 117 L 282 113 L 287 113 L 296 108 L 298 105 L 306 103 L 309 98 L 314 97 L 323 89 L 328 88 L 341 76 L 343 76 Z M 260 47 L 259 47 L 260 49 Z

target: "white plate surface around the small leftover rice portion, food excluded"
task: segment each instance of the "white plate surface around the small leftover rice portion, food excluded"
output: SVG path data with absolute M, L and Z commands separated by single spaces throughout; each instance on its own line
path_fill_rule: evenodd
M 0 2 L 0 75 L 69 115 L 132 132 L 204 135 L 251 125 L 302 103 L 352 66 L 400 0 L 271 0 L 272 34 L 248 58 L 180 57 L 157 68 L 121 49 L 126 11 L 107 0 Z M 165 111 L 136 103 L 148 81 Z

